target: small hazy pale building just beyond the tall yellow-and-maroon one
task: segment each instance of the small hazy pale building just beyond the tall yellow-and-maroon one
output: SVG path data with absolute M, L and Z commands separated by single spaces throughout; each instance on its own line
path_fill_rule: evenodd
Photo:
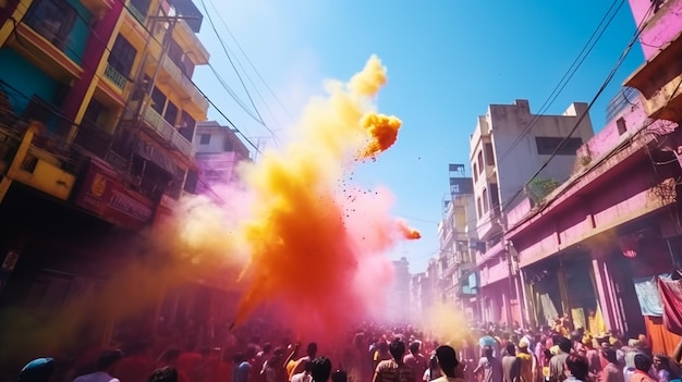
M 199 170 L 197 194 L 210 194 L 212 185 L 235 183 L 239 163 L 251 160 L 248 148 L 236 133 L 216 121 L 197 124 L 193 144 Z

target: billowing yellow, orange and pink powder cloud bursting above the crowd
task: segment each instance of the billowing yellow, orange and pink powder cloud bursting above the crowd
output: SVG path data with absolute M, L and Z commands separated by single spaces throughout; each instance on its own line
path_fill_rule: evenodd
M 351 163 L 397 139 L 400 120 L 373 110 L 383 84 L 386 70 L 372 57 L 349 84 L 331 82 L 327 98 L 310 101 L 285 148 L 244 169 L 253 215 L 239 235 L 251 261 L 236 325 L 258 306 L 280 301 L 302 335 L 329 332 L 381 305 L 393 272 L 382 250 L 405 236 L 403 225 L 390 217 L 390 194 L 339 182 Z

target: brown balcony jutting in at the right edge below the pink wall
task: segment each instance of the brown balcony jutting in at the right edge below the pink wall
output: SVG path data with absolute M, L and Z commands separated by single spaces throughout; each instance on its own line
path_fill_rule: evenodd
M 625 81 L 640 90 L 650 118 L 678 122 L 682 115 L 681 56 L 682 33 Z

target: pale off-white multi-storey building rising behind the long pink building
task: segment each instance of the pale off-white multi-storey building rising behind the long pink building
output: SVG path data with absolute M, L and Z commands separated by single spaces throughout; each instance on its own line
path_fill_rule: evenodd
M 573 171 L 576 150 L 593 137 L 588 116 L 581 115 L 586 103 L 572 103 L 562 115 L 531 112 L 527 100 L 513 104 L 491 104 L 478 116 L 471 135 L 471 167 L 476 200 L 476 269 L 480 281 L 478 298 L 482 319 L 489 322 L 521 322 L 519 286 L 510 276 L 503 230 L 504 212 L 523 198 L 541 198 L 548 187 L 556 187 Z M 580 122 L 580 123 L 579 123 Z M 576 125 L 574 136 L 563 139 Z M 561 144 L 561 145 L 560 145 Z M 553 153 L 556 157 L 526 186 L 525 182 Z

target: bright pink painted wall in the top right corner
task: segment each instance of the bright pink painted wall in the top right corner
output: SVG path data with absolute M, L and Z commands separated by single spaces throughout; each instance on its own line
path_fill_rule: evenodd
M 650 7 L 651 0 L 630 0 L 636 25 L 640 25 L 647 15 L 650 20 L 640 37 L 644 59 L 647 61 L 658 53 L 660 47 L 682 32 L 682 0 L 666 0 L 655 14 L 648 12 Z

